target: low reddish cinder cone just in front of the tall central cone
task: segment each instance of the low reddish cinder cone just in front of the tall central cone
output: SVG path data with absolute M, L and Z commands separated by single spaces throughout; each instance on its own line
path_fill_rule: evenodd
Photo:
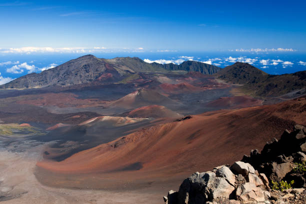
M 128 112 L 129 117 L 180 117 L 181 115 L 162 105 L 148 105 Z

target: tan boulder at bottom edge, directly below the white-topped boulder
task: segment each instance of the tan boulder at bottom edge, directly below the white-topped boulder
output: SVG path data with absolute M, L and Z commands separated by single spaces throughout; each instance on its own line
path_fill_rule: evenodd
M 243 185 L 239 185 L 236 189 L 236 197 L 243 203 L 249 202 L 263 202 L 265 200 L 263 190 L 257 187 L 252 182 L 246 182 Z

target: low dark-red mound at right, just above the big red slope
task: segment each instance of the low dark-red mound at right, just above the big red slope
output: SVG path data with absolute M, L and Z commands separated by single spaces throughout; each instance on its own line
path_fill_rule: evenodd
M 234 109 L 234 108 L 261 105 L 262 102 L 263 102 L 262 100 L 252 98 L 247 95 L 242 95 L 242 96 L 232 96 L 232 97 L 220 97 L 216 100 L 207 103 L 207 106 L 219 109 L 220 108 Z

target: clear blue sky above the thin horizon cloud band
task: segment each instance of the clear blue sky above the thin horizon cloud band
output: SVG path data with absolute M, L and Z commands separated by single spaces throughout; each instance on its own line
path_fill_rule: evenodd
M 305 9 L 304 0 L 0 0 L 0 47 L 305 50 Z

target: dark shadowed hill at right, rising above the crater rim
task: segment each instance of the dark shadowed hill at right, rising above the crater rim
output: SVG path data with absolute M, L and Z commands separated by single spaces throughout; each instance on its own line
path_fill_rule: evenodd
M 271 75 L 248 63 L 236 62 L 214 75 L 232 83 L 243 84 L 241 89 L 253 96 L 306 94 L 306 71 Z

